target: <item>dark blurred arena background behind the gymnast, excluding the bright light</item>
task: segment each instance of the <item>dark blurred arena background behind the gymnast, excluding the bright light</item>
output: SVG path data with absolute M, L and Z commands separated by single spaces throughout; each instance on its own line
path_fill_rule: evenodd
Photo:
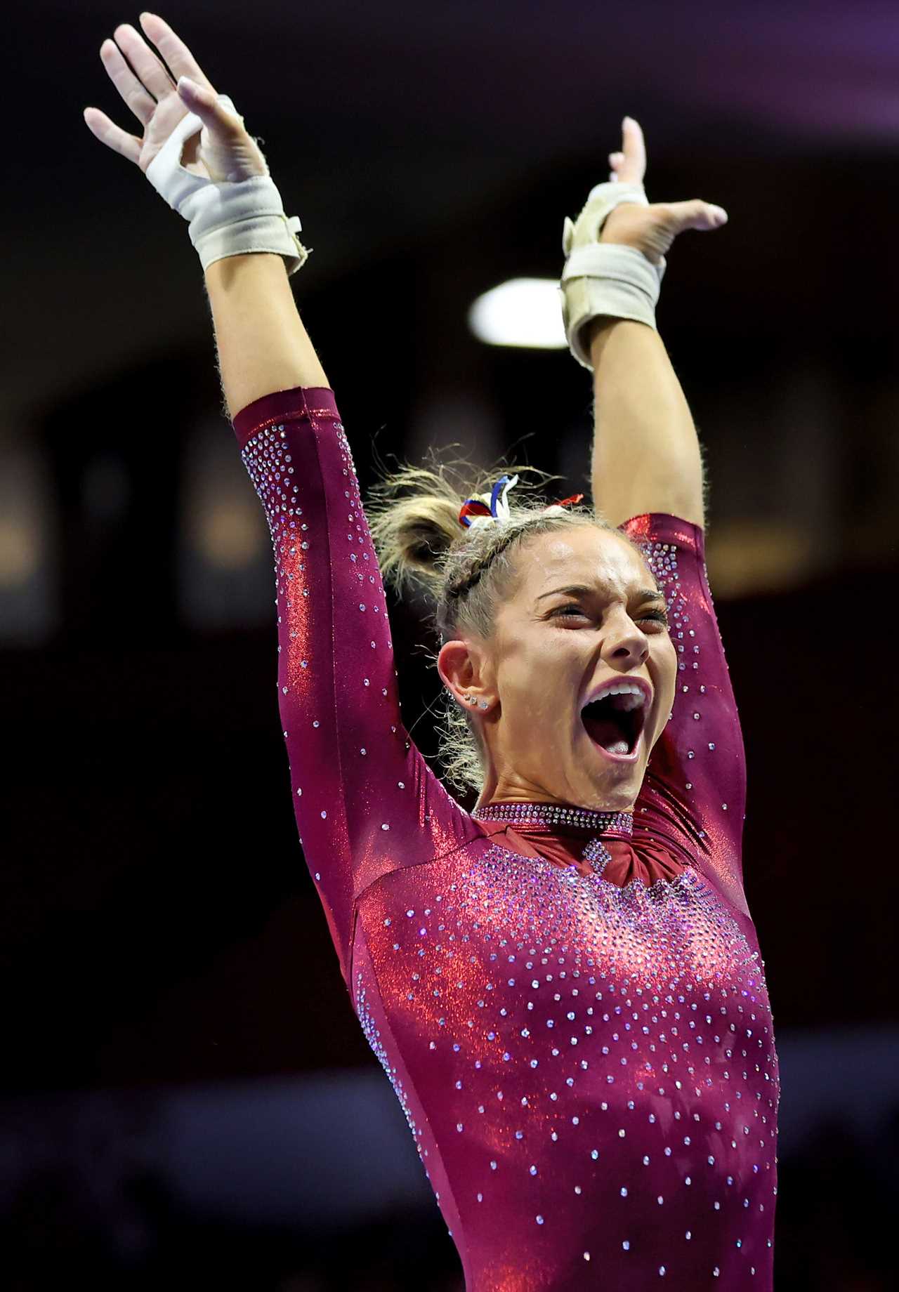
M 199 261 L 81 119 L 137 129 L 98 49 L 138 13 L 31 0 L 4 19 L 4 1283 L 461 1292 L 297 842 L 271 548 Z M 727 208 L 676 243 L 659 327 L 705 446 L 748 752 L 778 1288 L 895 1287 L 899 10 L 161 14 L 302 218 L 315 251 L 292 283 L 363 482 L 372 442 L 488 461 L 518 443 L 557 496 L 585 487 L 589 375 L 567 350 L 483 345 L 466 313 L 558 276 L 624 112 L 650 200 Z M 395 607 L 394 641 L 430 756 L 422 607 Z

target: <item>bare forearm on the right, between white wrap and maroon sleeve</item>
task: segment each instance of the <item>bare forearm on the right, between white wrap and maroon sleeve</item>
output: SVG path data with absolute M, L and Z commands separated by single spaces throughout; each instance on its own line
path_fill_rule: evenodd
M 704 525 L 699 437 L 659 333 L 598 319 L 590 358 L 594 505 L 612 525 L 642 512 Z

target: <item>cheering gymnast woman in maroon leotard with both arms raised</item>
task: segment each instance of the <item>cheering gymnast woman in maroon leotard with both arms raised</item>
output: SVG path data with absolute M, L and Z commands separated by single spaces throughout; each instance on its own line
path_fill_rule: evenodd
M 190 221 L 271 530 L 304 854 L 466 1288 L 770 1292 L 779 1078 L 743 743 L 699 441 L 655 327 L 676 235 L 726 216 L 650 205 L 625 118 L 563 235 L 593 505 L 438 461 L 385 479 L 367 519 L 288 282 L 300 222 L 183 41 L 141 26 L 101 57 L 142 134 L 85 120 Z M 403 727 L 382 576 L 434 597 L 447 782 L 473 813 Z

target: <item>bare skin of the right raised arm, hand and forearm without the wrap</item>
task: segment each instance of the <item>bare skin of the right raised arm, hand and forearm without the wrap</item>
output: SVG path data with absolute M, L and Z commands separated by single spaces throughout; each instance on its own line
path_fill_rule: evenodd
M 612 177 L 642 183 L 643 132 L 623 124 L 623 151 L 610 155 Z M 716 229 L 719 207 L 705 202 L 623 203 L 611 212 L 599 240 L 641 251 L 651 264 L 685 229 Z M 630 319 L 598 318 L 592 324 L 594 386 L 593 500 L 612 525 L 645 512 L 668 512 L 703 527 L 704 475 L 699 437 L 681 382 L 659 333 Z

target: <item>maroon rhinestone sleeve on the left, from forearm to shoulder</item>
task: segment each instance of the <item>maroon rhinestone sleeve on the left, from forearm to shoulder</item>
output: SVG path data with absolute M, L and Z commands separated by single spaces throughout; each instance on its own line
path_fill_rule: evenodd
M 234 419 L 275 557 L 278 700 L 306 864 L 349 985 L 355 901 L 477 827 L 402 725 L 384 585 L 333 393 Z

